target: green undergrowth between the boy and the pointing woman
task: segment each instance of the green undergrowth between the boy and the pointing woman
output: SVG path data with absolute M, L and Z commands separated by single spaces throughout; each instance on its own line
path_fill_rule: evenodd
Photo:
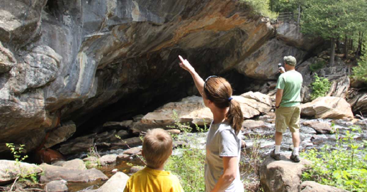
M 184 141 L 194 142 L 197 141 L 196 136 L 190 134 L 191 128 L 188 124 L 182 124 L 179 121 L 177 113 L 173 111 L 172 119 L 174 119 L 174 126 L 171 128 L 178 128 L 182 130 L 182 138 Z M 197 131 L 203 133 L 207 131 L 207 126 L 200 128 L 195 125 Z M 165 170 L 171 171 L 179 177 L 183 191 L 205 191 L 204 182 L 204 166 L 205 166 L 205 152 L 198 148 L 190 148 L 190 146 L 182 146 L 181 155 L 173 155 L 168 158 Z

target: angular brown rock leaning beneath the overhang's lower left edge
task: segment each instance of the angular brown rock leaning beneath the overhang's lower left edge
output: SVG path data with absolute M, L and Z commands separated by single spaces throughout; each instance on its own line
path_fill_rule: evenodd
M 76 125 L 74 122 L 69 121 L 62 123 L 60 127 L 55 128 L 49 133 L 44 147 L 50 148 L 56 144 L 68 140 L 75 133 L 75 131 Z

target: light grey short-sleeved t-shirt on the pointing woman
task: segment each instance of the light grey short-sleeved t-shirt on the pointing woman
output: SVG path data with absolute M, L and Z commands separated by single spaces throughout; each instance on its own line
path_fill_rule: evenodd
M 211 124 L 206 141 L 206 163 L 205 163 L 205 190 L 210 192 L 219 177 L 223 174 L 222 157 L 237 157 L 240 162 L 241 138 L 236 135 L 235 130 L 227 123 Z M 243 184 L 240 180 L 240 170 L 237 166 L 235 180 L 225 190 L 226 192 L 243 192 Z

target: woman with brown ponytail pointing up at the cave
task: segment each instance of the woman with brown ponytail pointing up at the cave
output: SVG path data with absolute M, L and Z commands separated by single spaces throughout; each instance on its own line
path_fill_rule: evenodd
M 204 104 L 213 113 L 206 141 L 206 192 L 242 192 L 239 161 L 241 138 L 239 132 L 243 115 L 238 102 L 232 99 L 232 87 L 224 78 L 210 76 L 205 81 L 190 63 L 178 56 L 181 68 L 190 72 Z

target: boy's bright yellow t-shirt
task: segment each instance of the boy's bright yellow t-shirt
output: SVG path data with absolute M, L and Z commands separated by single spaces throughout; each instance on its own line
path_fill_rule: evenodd
M 145 167 L 131 175 L 124 192 L 183 192 L 176 175 Z

